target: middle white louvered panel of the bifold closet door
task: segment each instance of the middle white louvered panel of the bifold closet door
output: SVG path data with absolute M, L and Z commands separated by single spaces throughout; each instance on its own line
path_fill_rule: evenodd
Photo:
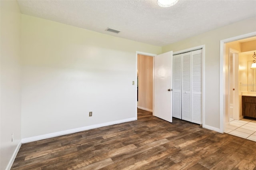
M 191 52 L 182 55 L 182 119 L 191 122 Z

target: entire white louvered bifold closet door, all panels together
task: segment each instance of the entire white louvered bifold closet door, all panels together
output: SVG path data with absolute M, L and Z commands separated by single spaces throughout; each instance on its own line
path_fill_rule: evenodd
M 173 56 L 173 117 L 202 124 L 202 49 Z

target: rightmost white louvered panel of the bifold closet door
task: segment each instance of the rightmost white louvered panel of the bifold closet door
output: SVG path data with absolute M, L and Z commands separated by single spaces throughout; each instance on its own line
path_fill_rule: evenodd
M 191 122 L 202 124 L 202 49 L 192 51 L 191 72 Z

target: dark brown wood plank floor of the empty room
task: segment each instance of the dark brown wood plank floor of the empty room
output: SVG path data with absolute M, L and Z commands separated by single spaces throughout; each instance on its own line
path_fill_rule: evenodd
M 256 169 L 256 142 L 138 109 L 138 121 L 22 144 L 13 170 Z

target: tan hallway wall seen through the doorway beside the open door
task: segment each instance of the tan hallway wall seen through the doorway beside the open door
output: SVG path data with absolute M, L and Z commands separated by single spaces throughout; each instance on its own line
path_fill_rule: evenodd
M 138 108 L 152 111 L 153 57 L 138 54 Z

